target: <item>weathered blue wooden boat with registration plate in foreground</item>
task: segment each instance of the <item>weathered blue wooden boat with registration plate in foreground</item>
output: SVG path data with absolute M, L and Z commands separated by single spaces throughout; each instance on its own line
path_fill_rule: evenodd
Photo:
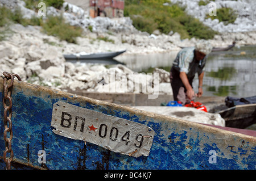
M 16 80 L 11 102 L 11 169 L 256 169 L 254 136 Z

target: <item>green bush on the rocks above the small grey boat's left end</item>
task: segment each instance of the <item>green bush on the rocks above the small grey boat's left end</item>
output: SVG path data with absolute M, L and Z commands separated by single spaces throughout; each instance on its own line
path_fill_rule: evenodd
M 60 40 L 65 40 L 69 43 L 76 43 L 76 37 L 81 36 L 82 33 L 80 27 L 65 23 L 63 16 L 48 16 L 42 27 L 48 35 L 57 36 Z

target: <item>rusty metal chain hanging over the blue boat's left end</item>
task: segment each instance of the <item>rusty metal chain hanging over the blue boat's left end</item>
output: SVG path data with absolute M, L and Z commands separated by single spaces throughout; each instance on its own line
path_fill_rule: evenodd
M 3 161 L 6 163 L 6 169 L 11 169 L 11 161 L 13 161 L 14 153 L 13 149 L 11 149 L 11 140 L 13 139 L 13 123 L 11 121 L 13 101 L 11 99 L 11 92 L 13 90 L 13 82 L 14 77 L 18 78 L 19 81 L 22 81 L 18 74 L 11 74 L 7 72 L 3 72 L 3 124 L 5 125 L 5 131 L 3 131 L 3 140 L 5 140 L 5 151 L 3 152 Z M 8 80 L 11 80 L 9 84 L 7 84 Z M 9 106 L 7 106 L 7 100 L 9 100 Z M 9 115 L 7 116 L 7 112 Z M 10 137 L 7 137 L 7 132 L 10 133 Z M 10 157 L 7 158 L 6 154 L 10 153 Z

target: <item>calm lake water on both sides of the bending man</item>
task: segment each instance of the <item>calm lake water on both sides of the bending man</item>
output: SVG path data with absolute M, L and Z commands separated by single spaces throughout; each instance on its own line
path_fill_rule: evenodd
M 177 52 L 119 56 L 115 59 L 134 71 L 147 72 L 150 68 L 170 70 Z M 256 95 L 256 45 L 234 47 L 224 52 L 209 54 L 204 68 L 203 90 L 205 96 Z M 198 86 L 198 77 L 193 87 Z M 197 91 L 197 89 L 195 89 Z

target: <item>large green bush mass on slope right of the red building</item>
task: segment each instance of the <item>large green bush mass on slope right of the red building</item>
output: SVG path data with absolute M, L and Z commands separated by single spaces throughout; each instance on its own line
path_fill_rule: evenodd
M 164 6 L 163 3 L 168 3 L 169 6 Z M 166 34 L 170 31 L 179 32 L 181 39 L 212 39 L 217 33 L 185 14 L 178 5 L 170 5 L 167 0 L 126 0 L 124 15 L 130 16 L 135 28 L 148 33 L 156 29 Z

